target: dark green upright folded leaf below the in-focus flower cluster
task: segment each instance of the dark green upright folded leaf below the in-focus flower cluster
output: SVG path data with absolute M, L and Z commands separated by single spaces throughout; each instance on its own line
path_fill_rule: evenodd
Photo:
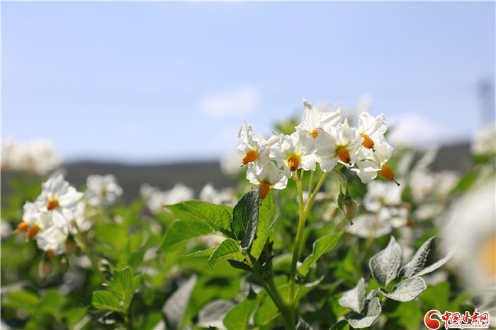
M 259 223 L 259 190 L 249 190 L 239 198 L 232 210 L 232 229 L 235 238 L 241 241 L 239 249 L 246 250 L 252 244 Z

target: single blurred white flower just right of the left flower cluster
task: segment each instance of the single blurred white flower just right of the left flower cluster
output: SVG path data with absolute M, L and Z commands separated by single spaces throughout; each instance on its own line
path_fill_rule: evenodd
M 123 188 L 115 182 L 115 176 L 92 175 L 86 179 L 86 200 L 91 206 L 107 206 L 123 194 Z

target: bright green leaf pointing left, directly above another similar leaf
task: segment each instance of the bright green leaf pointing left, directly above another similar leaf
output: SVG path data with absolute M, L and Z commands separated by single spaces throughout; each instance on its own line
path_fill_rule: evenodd
M 224 233 L 227 237 L 233 237 L 231 229 L 232 208 L 229 206 L 205 203 L 201 200 L 188 200 L 165 207 L 185 222 L 202 221 Z

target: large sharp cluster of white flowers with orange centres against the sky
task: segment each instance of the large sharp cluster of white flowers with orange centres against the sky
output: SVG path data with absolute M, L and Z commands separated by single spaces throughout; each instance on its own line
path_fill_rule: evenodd
M 384 115 L 373 118 L 364 112 L 359 115 L 359 127 L 349 126 L 342 118 L 341 108 L 321 111 L 303 99 L 305 117 L 291 135 L 274 135 L 269 140 L 254 135 L 245 121 L 237 136 L 244 152 L 242 166 L 248 165 L 248 180 L 260 186 L 264 199 L 270 188 L 284 189 L 288 178 L 298 169 L 330 172 L 337 163 L 355 171 L 363 183 L 378 173 L 394 181 L 394 173 L 386 165 L 393 153 L 385 140 L 387 130 Z M 357 167 L 355 167 L 355 165 Z

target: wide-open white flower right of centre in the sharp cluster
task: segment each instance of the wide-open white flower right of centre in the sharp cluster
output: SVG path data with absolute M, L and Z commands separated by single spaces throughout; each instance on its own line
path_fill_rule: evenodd
M 363 142 L 359 130 L 349 127 L 348 120 L 343 124 L 331 127 L 330 130 L 320 130 L 315 139 L 315 155 L 322 171 L 329 172 L 334 169 L 337 161 L 346 166 L 353 166 L 356 153 Z

